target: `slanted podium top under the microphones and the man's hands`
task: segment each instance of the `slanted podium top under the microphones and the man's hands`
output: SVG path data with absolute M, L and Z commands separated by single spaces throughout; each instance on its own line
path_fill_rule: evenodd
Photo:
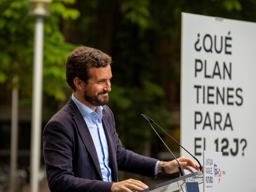
M 203 172 L 194 172 L 152 186 L 143 192 L 199 192 L 198 185 L 202 183 Z

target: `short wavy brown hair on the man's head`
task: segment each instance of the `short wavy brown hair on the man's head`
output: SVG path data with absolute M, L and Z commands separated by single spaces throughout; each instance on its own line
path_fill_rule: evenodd
M 92 67 L 106 67 L 110 64 L 111 57 L 98 49 L 85 46 L 76 48 L 67 57 L 66 81 L 72 90 L 75 90 L 73 82 L 75 77 L 87 82 L 91 78 L 89 69 Z

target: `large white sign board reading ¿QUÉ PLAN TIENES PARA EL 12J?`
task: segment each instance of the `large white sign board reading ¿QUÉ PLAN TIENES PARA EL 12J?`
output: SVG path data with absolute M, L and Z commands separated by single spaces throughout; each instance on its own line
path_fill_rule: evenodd
M 181 46 L 182 145 L 223 152 L 226 191 L 256 191 L 256 23 L 183 13 Z

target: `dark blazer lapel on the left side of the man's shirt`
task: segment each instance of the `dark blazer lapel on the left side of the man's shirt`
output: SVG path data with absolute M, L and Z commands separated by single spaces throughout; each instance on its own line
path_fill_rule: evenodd
M 100 169 L 100 162 L 97 156 L 95 146 L 93 144 L 92 136 L 87 127 L 87 124 L 85 123 L 85 120 L 83 119 L 82 114 L 80 113 L 77 106 L 75 106 L 75 103 L 74 101 L 72 101 L 72 99 L 69 100 L 68 106 L 69 106 L 70 113 L 73 115 L 73 119 L 77 124 L 77 129 L 79 130 L 80 136 L 83 140 L 83 143 L 85 144 L 85 148 L 87 148 L 89 154 L 92 156 L 95 167 L 101 177 L 101 180 L 103 180 L 101 169 Z

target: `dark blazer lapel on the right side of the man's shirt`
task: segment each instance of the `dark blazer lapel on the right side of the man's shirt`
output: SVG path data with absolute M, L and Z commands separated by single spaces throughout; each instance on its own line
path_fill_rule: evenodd
M 113 142 L 113 136 L 111 136 L 111 123 L 108 120 L 108 117 L 106 117 L 106 112 L 103 110 L 103 128 L 105 131 L 106 139 L 108 141 L 108 153 L 109 153 L 109 166 L 112 169 L 113 172 L 113 182 L 118 181 L 118 169 L 117 169 L 117 162 L 116 162 L 116 151 L 114 150 L 114 142 Z

